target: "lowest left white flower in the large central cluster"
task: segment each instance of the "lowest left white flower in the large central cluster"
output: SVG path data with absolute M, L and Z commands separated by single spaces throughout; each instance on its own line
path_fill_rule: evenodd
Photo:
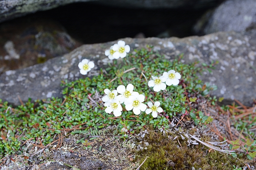
M 111 112 L 114 113 L 114 115 L 116 117 L 121 115 L 121 111 L 123 110 L 120 102 L 116 99 L 114 100 L 108 100 L 104 106 L 107 106 L 107 108 L 105 109 L 105 112 L 110 114 Z

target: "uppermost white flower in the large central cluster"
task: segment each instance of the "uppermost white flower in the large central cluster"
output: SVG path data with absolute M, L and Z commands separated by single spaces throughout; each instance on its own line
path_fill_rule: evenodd
M 134 86 L 132 84 L 127 85 L 126 89 L 124 85 L 119 85 L 117 87 L 116 90 L 120 93 L 120 95 L 117 96 L 120 103 L 124 103 L 126 105 L 127 102 L 129 102 L 130 97 L 134 94 L 133 88 Z

